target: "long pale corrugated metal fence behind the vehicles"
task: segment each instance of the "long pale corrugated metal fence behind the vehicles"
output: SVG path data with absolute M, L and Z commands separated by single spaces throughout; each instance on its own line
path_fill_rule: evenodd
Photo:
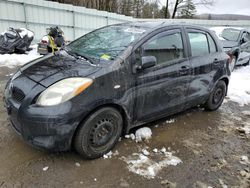
M 37 42 L 46 32 L 46 28 L 58 25 L 62 28 L 68 40 L 73 40 L 96 28 L 136 20 L 132 17 L 87 9 L 67 4 L 44 0 L 0 0 L 0 32 L 8 27 L 26 27 L 35 33 Z M 155 20 L 154 20 L 155 21 Z M 166 20 L 157 21 L 185 22 L 202 26 L 240 26 L 250 29 L 250 21 L 225 20 Z

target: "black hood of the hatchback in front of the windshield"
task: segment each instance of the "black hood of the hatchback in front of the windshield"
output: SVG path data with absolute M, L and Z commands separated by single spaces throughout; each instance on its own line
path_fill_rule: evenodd
M 58 52 L 30 62 L 20 69 L 22 74 L 31 80 L 48 87 L 51 84 L 69 77 L 87 77 L 101 67 L 92 65 L 86 60 L 76 59 Z

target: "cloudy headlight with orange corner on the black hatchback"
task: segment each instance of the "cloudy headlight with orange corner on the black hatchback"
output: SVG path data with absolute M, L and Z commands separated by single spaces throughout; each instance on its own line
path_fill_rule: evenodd
M 61 80 L 45 91 L 38 97 L 36 104 L 41 106 L 53 106 L 75 97 L 93 83 L 90 78 L 66 78 Z

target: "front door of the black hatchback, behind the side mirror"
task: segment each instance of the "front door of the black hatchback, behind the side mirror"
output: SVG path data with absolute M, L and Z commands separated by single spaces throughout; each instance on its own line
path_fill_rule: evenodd
M 161 32 L 136 51 L 136 63 L 154 56 L 157 63 L 136 72 L 135 114 L 139 121 L 156 119 L 184 108 L 191 67 L 181 29 Z

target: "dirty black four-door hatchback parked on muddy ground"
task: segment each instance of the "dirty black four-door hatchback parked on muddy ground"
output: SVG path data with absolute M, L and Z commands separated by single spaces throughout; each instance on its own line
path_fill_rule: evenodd
M 216 110 L 229 56 L 208 29 L 132 22 L 95 30 L 21 67 L 5 105 L 23 139 L 97 158 L 122 133 L 197 105 Z

